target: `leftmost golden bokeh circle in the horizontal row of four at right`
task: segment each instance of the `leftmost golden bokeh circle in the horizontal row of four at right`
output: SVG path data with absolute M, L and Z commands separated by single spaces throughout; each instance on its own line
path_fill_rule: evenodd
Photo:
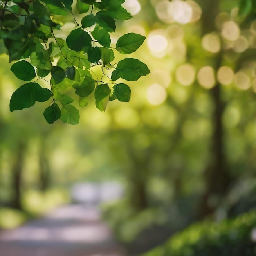
M 195 69 L 191 64 L 184 64 L 177 68 L 176 79 L 182 85 L 191 85 L 195 80 Z

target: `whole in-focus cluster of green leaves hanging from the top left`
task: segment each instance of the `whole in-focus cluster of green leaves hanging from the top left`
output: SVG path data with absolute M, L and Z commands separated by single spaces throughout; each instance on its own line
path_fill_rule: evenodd
M 4 43 L 9 61 L 18 61 L 11 71 L 18 79 L 27 81 L 12 95 L 10 110 L 29 108 L 36 101 L 51 99 L 44 117 L 49 124 L 61 119 L 77 124 L 79 110 L 72 105 L 69 95 L 61 93 L 63 87 L 74 88 L 80 107 L 88 104 L 87 97 L 94 92 L 96 107 L 103 111 L 108 101 L 128 102 L 131 90 L 119 78 L 137 81 L 150 73 L 146 64 L 138 59 L 124 58 L 114 61 L 114 50 L 119 54 L 135 52 L 144 42 L 140 34 L 121 36 L 110 47 L 115 20 L 128 20 L 130 13 L 122 7 L 124 0 L 0 0 L 0 43 Z M 81 24 L 76 21 L 74 9 L 83 15 Z M 72 15 L 76 25 L 64 39 L 54 31 L 64 25 L 61 16 Z M 90 28 L 90 29 L 88 29 Z M 63 35 L 64 36 L 64 35 Z M 25 60 L 27 59 L 27 60 Z M 101 67 L 99 79 L 92 67 Z M 111 71 L 111 77 L 106 74 Z M 37 81 L 49 82 L 49 89 Z

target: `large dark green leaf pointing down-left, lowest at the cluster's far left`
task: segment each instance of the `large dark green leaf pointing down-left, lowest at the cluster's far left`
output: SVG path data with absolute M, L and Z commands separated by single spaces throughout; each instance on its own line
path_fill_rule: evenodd
M 10 100 L 10 111 L 29 108 L 36 103 L 36 90 L 41 86 L 38 83 L 26 83 L 13 92 Z

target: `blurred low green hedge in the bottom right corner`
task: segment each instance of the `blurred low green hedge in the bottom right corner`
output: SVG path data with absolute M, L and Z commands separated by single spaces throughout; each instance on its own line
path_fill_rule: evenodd
M 256 210 L 222 222 L 203 221 L 144 256 L 254 256 Z

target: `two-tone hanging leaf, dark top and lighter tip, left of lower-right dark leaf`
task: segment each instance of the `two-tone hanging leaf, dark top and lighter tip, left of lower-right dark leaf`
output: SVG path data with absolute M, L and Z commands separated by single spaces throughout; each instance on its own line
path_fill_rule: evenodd
M 97 85 L 94 93 L 96 108 L 105 111 L 109 101 L 110 88 L 107 84 Z

